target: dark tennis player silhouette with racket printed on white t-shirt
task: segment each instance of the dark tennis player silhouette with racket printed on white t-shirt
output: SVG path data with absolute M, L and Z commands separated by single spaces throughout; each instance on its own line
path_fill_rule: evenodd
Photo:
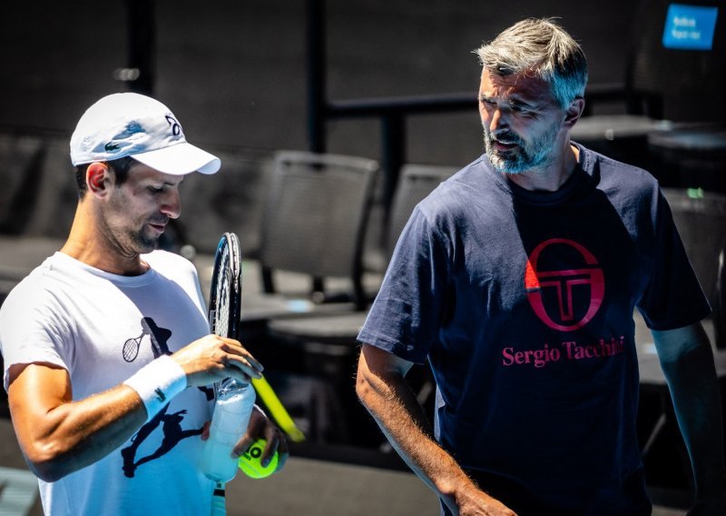
M 157 359 L 162 354 L 172 354 L 169 350 L 167 342 L 172 336 L 172 331 L 167 328 L 159 327 L 151 317 L 144 317 L 141 321 L 142 334 L 138 337 L 127 340 L 123 344 L 123 360 L 126 362 L 133 362 L 136 360 L 136 356 L 139 354 L 139 348 L 143 342 L 143 337 L 148 336 L 152 345 L 153 358 Z M 129 343 L 131 342 L 131 343 Z M 134 349 L 135 348 L 135 349 Z M 204 390 L 202 390 L 204 391 Z M 206 392 L 206 391 L 204 391 Z M 208 399 L 210 399 L 208 397 Z M 169 403 L 164 405 L 162 411 L 156 414 L 151 421 L 145 423 L 139 432 L 136 432 L 131 442 L 132 444 L 121 450 L 121 456 L 123 457 L 123 474 L 129 478 L 133 478 L 136 469 L 142 464 L 158 459 L 162 455 L 171 452 L 172 449 L 179 444 L 183 439 L 192 437 L 195 435 L 201 435 L 203 427 L 199 429 L 184 430 L 182 429 L 182 422 L 184 421 L 184 414 L 187 411 L 182 410 L 173 413 L 167 413 L 169 410 Z M 159 427 L 162 427 L 162 442 L 159 447 L 152 453 L 136 460 L 136 452 L 139 447 L 145 442 L 154 431 Z

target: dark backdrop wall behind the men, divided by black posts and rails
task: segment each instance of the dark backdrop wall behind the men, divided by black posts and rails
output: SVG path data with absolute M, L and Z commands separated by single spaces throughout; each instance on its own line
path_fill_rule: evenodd
M 305 2 L 156 1 L 155 94 L 193 142 L 304 149 Z M 591 82 L 621 81 L 632 2 L 455 0 L 327 2 L 330 99 L 476 92 L 472 50 L 526 16 L 560 16 L 584 45 Z M 0 126 L 70 133 L 83 109 L 123 91 L 125 3 L 5 3 L 0 15 Z M 374 120 L 327 125 L 329 151 L 379 157 Z M 407 123 L 410 161 L 465 164 L 481 151 L 471 113 Z

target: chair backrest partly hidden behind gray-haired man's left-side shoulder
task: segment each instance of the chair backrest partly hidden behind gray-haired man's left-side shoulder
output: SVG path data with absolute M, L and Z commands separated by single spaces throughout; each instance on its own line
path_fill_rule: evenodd
M 388 222 L 386 240 L 388 258 L 393 253 L 398 237 L 417 203 L 458 170 L 459 167 L 456 166 L 429 164 L 406 164 L 401 168 L 400 181 L 393 198 Z

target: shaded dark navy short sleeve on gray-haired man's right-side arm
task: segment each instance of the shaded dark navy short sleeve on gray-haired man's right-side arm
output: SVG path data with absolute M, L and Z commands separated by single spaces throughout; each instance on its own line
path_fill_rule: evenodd
M 671 208 L 662 193 L 658 195 L 656 210 L 657 248 L 650 280 L 638 308 L 649 328 L 664 331 L 701 321 L 711 313 L 711 306 L 693 272 L 673 223 Z

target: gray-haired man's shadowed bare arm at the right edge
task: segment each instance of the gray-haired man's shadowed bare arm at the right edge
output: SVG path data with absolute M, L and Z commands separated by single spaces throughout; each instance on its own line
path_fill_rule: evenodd
M 692 513 L 724 514 L 721 401 L 708 336 L 701 323 L 652 334 L 691 457 L 696 484 L 696 508 Z

